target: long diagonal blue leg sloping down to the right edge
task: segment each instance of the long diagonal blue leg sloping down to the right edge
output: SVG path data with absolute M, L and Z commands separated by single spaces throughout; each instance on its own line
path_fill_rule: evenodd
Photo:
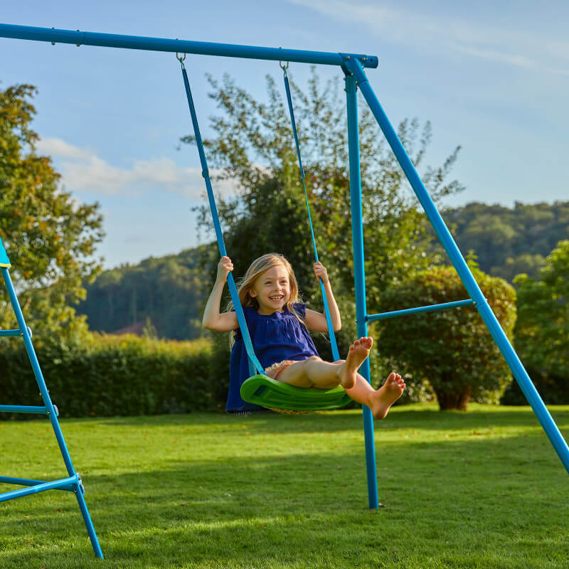
M 393 154 L 395 154 L 401 168 L 405 172 L 405 176 L 407 176 L 409 183 L 413 187 L 416 196 L 427 214 L 427 218 L 429 218 L 435 233 L 437 233 L 447 255 L 449 255 L 454 268 L 457 270 L 457 273 L 464 284 L 464 287 L 469 292 L 472 300 L 474 300 L 474 304 L 477 307 L 482 320 L 484 320 L 492 338 L 501 351 L 502 356 L 504 356 L 506 363 L 508 363 L 516 381 L 519 383 L 519 386 L 523 391 L 523 395 L 526 396 L 528 403 L 533 409 L 533 413 L 536 414 L 536 417 L 551 441 L 555 452 L 557 452 L 561 462 L 563 462 L 563 466 L 567 472 L 569 472 L 569 447 L 567 446 L 565 439 L 563 439 L 557 425 L 555 425 L 555 421 L 553 421 L 551 414 L 547 410 L 546 405 L 544 405 L 543 400 L 536 390 L 535 385 L 533 385 L 529 378 L 528 373 L 525 368 L 523 368 L 523 365 L 514 351 L 514 348 L 512 348 L 508 337 L 501 328 L 498 319 L 496 319 L 496 315 L 492 312 L 488 301 L 484 297 L 484 294 L 482 294 L 478 283 L 474 280 L 474 276 L 472 275 L 467 262 L 464 260 L 462 253 L 457 247 L 457 244 L 454 243 L 454 239 L 452 238 L 447 225 L 445 225 L 445 221 L 442 220 L 440 213 L 437 211 L 435 204 L 432 202 L 432 199 L 427 192 L 427 188 L 425 188 L 417 170 L 415 170 L 413 162 L 403 148 L 403 144 L 401 144 L 395 129 L 391 126 L 387 115 L 385 115 L 376 94 L 373 92 L 373 89 L 369 84 L 366 73 L 364 73 L 361 65 L 359 65 L 354 59 L 346 60 L 345 67 L 349 73 L 351 73 L 350 77 L 356 81 L 356 85 L 360 88 L 371 112 L 373 112 L 374 117 L 376 117 L 383 134 L 385 134 L 385 139 L 387 139 L 391 149 L 393 150 Z

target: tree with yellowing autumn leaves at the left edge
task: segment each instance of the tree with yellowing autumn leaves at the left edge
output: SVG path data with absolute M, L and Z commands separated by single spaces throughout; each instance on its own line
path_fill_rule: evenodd
M 103 236 L 98 203 L 78 204 L 60 187 L 48 156 L 36 154 L 31 85 L 0 90 L 0 233 L 21 306 L 36 333 L 85 330 L 71 305 L 100 268 L 93 260 Z M 0 327 L 15 327 L 0 287 Z M 55 334 L 53 334 L 55 335 Z

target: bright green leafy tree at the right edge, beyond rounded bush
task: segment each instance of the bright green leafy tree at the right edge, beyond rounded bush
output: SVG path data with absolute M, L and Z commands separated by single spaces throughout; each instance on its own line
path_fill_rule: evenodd
M 569 240 L 563 240 L 533 279 L 518 275 L 516 348 L 550 403 L 568 400 Z

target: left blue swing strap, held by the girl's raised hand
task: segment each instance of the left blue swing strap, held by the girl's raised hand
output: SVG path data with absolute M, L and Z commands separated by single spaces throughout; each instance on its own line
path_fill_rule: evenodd
M 223 240 L 223 233 L 221 232 L 221 225 L 219 223 L 218 208 L 216 206 L 216 199 L 213 196 L 213 188 L 211 187 L 211 180 L 208 171 L 208 162 L 206 160 L 206 153 L 203 150 L 203 142 L 201 140 L 200 128 L 198 125 L 198 117 L 196 115 L 196 108 L 193 106 L 193 97 L 191 96 L 190 82 L 188 81 L 188 74 L 186 73 L 186 67 L 184 61 L 179 58 L 182 76 L 184 78 L 184 85 L 186 87 L 186 95 L 188 97 L 188 105 L 190 107 L 191 122 L 193 124 L 193 132 L 196 135 L 196 144 L 198 147 L 198 153 L 200 155 L 201 162 L 201 175 L 206 181 L 206 190 L 208 193 L 209 207 L 211 209 L 211 217 L 213 218 L 213 226 L 216 229 L 216 238 L 218 241 L 219 253 L 222 257 L 227 255 L 225 251 L 225 242 Z M 241 302 L 239 300 L 239 293 L 237 292 L 237 287 L 235 286 L 235 280 L 233 275 L 229 273 L 227 276 L 227 284 L 229 287 L 229 292 L 231 299 L 233 300 L 233 306 L 235 307 L 235 314 L 237 315 L 237 320 L 239 322 L 239 327 L 241 329 L 241 335 L 243 336 L 243 344 L 245 344 L 245 349 L 247 350 L 247 355 L 249 357 L 249 371 L 250 375 L 255 375 L 255 373 L 265 373 L 264 368 L 261 366 L 260 361 L 255 356 L 255 350 L 253 349 L 251 337 L 247 329 L 247 323 L 245 322 L 245 314 L 243 314 L 243 307 L 241 307 Z

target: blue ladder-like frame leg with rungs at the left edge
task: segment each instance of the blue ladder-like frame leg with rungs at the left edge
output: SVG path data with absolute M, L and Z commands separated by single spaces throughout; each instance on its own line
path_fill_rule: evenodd
M 23 318 L 20 304 L 18 302 L 18 297 L 16 297 L 16 292 L 14 291 L 14 286 L 12 285 L 10 278 L 9 267 L 10 262 L 6 255 L 6 251 L 4 250 L 4 245 L 2 245 L 2 241 L 0 239 L 0 270 L 2 272 L 2 277 L 4 277 L 4 283 L 6 284 L 10 302 L 14 309 L 16 321 L 18 322 L 19 326 L 19 328 L 16 330 L 0 330 L 0 337 L 20 336 L 23 338 L 23 342 L 26 346 L 28 358 L 30 359 L 31 367 L 33 370 L 33 375 L 36 377 L 36 382 L 38 383 L 38 388 L 41 393 L 43 406 L 0 405 L 0 413 L 36 413 L 39 415 L 47 415 L 53 427 L 55 438 L 58 441 L 59 449 L 61 456 L 63 457 L 63 462 L 65 463 L 65 468 L 67 469 L 68 476 L 60 480 L 53 480 L 52 482 L 0 476 L 0 483 L 27 486 L 26 488 L 0 494 L 0 502 L 15 498 L 21 498 L 22 496 L 37 494 L 38 492 L 53 489 L 73 492 L 77 497 L 79 508 L 81 510 L 81 514 L 83 515 L 83 519 L 85 520 L 85 526 L 87 527 L 87 533 L 89 534 L 95 555 L 102 558 L 103 555 L 99 545 L 99 540 L 97 539 L 97 533 L 95 533 L 95 528 L 93 527 L 91 516 L 89 515 L 89 510 L 87 509 L 85 497 L 83 496 L 83 494 L 85 494 L 85 489 L 81 482 L 80 475 L 78 472 L 75 472 L 75 468 L 73 467 L 73 462 L 71 462 L 71 457 L 69 455 L 67 445 L 65 445 L 63 432 L 61 432 L 61 427 L 58 421 L 58 410 L 51 402 L 48 388 L 46 387 L 46 382 L 43 379 L 43 374 L 41 373 L 36 351 L 33 349 L 33 344 L 31 341 L 31 331 L 26 326 L 26 321 Z

